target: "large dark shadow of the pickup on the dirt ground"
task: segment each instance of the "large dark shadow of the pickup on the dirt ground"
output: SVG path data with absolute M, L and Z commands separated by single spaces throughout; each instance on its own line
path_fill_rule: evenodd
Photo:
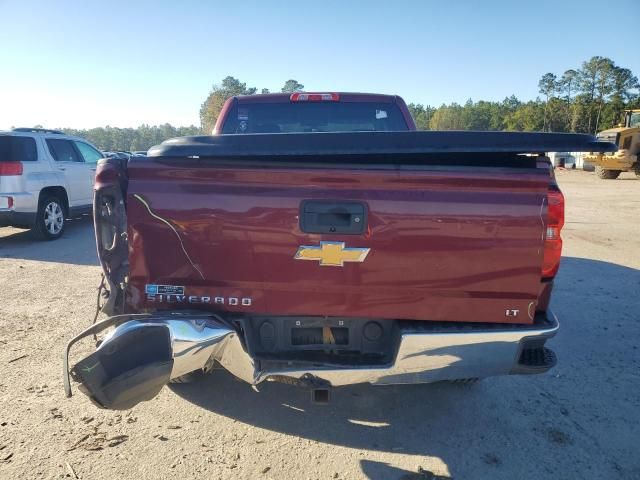
M 558 352 L 558 368 L 569 372 L 562 377 L 552 371 L 486 379 L 473 386 L 358 385 L 335 389 L 325 406 L 312 404 L 309 392 L 290 385 L 266 383 L 256 393 L 225 371 L 171 389 L 206 410 L 262 429 L 362 451 L 437 457 L 458 478 L 510 478 L 514 472 L 519 472 L 516 477 L 548 476 L 561 471 L 584 478 L 598 472 L 609 475 L 614 467 L 616 473 L 620 468 L 624 472 L 620 464 L 636 460 L 622 454 L 615 462 L 611 459 L 616 446 L 622 451 L 624 442 L 637 433 L 632 426 L 640 420 L 637 410 L 630 405 L 628 415 L 634 418 L 617 426 L 593 418 L 607 419 L 616 402 L 621 411 L 626 408 L 619 392 L 613 393 L 615 381 L 606 380 L 610 391 L 602 389 L 602 382 L 603 377 L 621 374 L 606 371 L 613 345 L 625 359 L 622 368 L 629 370 L 623 374 L 633 374 L 640 360 L 635 342 L 621 338 L 640 338 L 640 271 L 581 258 L 564 258 L 561 271 L 554 298 L 561 334 L 549 345 Z M 612 314 L 626 328 L 599 328 Z M 585 360 L 576 345 L 590 345 L 597 357 Z M 600 359 L 598 368 L 604 371 L 585 375 L 584 363 L 593 366 Z M 579 378 L 573 380 L 572 375 Z M 629 384 L 621 381 L 620 388 L 628 389 Z M 582 412 L 567 412 L 585 400 L 593 411 L 591 420 L 583 423 Z M 608 428 L 615 428 L 620 439 L 600 444 L 597 438 L 610 435 Z M 426 467 L 408 472 L 366 457 L 361 469 L 371 479 L 440 478 Z

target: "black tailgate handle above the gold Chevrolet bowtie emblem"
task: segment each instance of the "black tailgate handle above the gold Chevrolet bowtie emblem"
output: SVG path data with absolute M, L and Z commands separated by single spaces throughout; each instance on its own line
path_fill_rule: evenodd
M 361 235 L 366 228 L 364 203 L 304 200 L 300 205 L 300 230 L 305 233 Z

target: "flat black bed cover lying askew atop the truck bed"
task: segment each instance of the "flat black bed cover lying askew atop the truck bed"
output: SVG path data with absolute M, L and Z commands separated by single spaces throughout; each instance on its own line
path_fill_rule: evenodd
M 592 135 L 540 132 L 314 132 L 191 136 L 152 147 L 150 157 L 286 157 L 448 153 L 613 152 Z

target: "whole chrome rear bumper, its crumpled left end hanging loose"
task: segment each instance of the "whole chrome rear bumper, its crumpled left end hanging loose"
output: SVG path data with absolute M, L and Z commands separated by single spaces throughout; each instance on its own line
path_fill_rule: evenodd
M 115 330 L 98 349 L 70 370 L 73 344 L 112 326 Z M 71 375 L 99 406 L 128 409 L 153 398 L 170 380 L 208 370 L 216 362 L 252 385 L 265 380 L 334 387 L 388 385 L 542 373 L 555 364 L 555 356 L 544 344 L 558 328 L 553 314 L 537 317 L 533 325 L 399 322 L 392 362 L 347 367 L 256 360 L 235 328 L 217 315 L 122 315 L 94 325 L 69 342 L 64 356 L 65 390 L 71 396 Z

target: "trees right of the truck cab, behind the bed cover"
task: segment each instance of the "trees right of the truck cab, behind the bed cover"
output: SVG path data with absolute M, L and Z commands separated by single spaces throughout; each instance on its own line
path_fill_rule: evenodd
M 614 127 L 626 108 L 640 108 L 638 79 L 606 57 L 592 57 L 560 76 L 545 73 L 541 97 L 528 102 L 514 95 L 501 102 L 464 105 L 409 104 L 422 130 L 517 130 L 597 133 Z

